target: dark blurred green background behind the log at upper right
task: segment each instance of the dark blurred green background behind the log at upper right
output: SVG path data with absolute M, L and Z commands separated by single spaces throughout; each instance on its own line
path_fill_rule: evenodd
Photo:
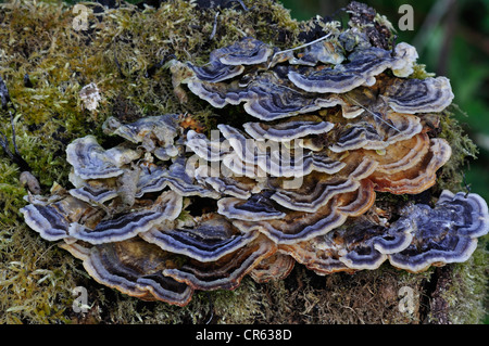
M 316 14 L 344 25 L 348 15 L 338 11 L 349 0 L 280 0 L 292 17 L 302 21 Z M 466 167 L 471 191 L 489 201 L 489 0 L 364 0 L 385 15 L 397 29 L 398 42 L 416 47 L 426 71 L 450 78 L 456 117 L 479 148 L 478 158 Z M 413 8 L 413 30 L 400 30 L 402 4 Z

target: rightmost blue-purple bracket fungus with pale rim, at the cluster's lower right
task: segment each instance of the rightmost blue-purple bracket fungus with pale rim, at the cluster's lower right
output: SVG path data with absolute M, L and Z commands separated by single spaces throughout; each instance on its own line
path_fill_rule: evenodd
M 404 219 L 414 223 L 413 241 L 401 252 L 390 254 L 389 261 L 412 272 L 467 260 L 477 238 L 489 231 L 487 203 L 474 193 L 444 190 L 432 208 L 425 204 L 406 206 L 402 210 Z

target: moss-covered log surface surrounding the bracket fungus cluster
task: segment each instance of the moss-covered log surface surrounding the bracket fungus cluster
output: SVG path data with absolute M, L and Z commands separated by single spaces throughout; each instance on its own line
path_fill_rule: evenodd
M 86 3 L 82 17 L 62 2 L 0 4 L 0 75 L 16 108 L 16 145 L 42 191 L 70 184 L 65 149 L 74 139 L 93 134 L 103 145 L 113 144 L 102 130 L 109 116 L 131 121 L 178 113 L 189 115 L 189 127 L 216 127 L 223 111 L 172 80 L 168 59 L 203 65 L 212 50 L 244 36 L 287 49 L 317 38 L 327 25 L 319 18 L 297 22 L 273 0 L 244 4 L 217 9 L 171 0 L 158 9 L 126 3 L 106 9 Z M 85 18 L 88 27 L 79 28 Z M 372 40 L 388 47 L 385 18 L 376 23 L 381 28 L 372 31 Z M 416 65 L 415 75 L 428 73 Z M 95 108 L 80 98 L 91 82 L 101 95 Z M 234 111 L 225 112 L 233 119 Z M 466 158 L 476 148 L 451 112 L 441 113 L 439 127 L 439 137 L 452 146 L 451 159 L 437 185 L 413 198 L 462 189 Z M 0 130 L 13 134 L 7 112 Z M 27 188 L 20 174 L 9 156 L 0 157 L 0 323 L 479 323 L 485 316 L 487 241 L 466 262 L 423 273 L 385 264 L 321 277 L 297 265 L 283 281 L 258 284 L 247 277 L 234 291 L 198 292 L 183 308 L 141 302 L 96 283 L 80 261 L 24 223 L 18 210 Z M 73 308 L 73 290 L 79 286 L 88 294 L 85 312 Z

